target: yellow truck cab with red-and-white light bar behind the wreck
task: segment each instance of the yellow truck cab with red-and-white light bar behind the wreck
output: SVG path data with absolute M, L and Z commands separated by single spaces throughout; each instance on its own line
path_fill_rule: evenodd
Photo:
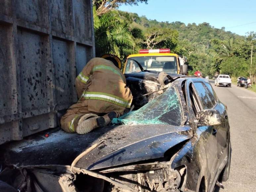
M 171 53 L 170 49 L 140 50 L 139 54 L 127 57 L 124 73 L 152 72 L 187 74 L 187 65 L 180 62 L 181 57 Z

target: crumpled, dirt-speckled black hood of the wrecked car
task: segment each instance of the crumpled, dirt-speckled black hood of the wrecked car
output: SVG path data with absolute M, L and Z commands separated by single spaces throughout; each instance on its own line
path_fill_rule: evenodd
M 190 127 L 159 124 L 110 126 L 85 135 L 60 130 L 48 138 L 37 136 L 4 145 L 4 160 L 16 167 L 71 165 L 80 153 L 103 140 L 76 164 L 92 170 L 161 158 L 168 149 L 191 137 Z

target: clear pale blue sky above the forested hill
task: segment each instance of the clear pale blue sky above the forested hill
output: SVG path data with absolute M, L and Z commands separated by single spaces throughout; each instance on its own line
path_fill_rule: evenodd
M 207 22 L 215 28 L 224 26 L 226 31 L 239 35 L 256 32 L 256 0 L 149 0 L 147 5 L 122 5 L 119 10 L 164 22 Z

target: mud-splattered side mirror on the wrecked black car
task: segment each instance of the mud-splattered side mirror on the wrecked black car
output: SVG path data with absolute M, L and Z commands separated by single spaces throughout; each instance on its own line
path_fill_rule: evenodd
M 199 126 L 211 126 L 221 124 L 221 114 L 215 109 L 205 109 L 197 114 Z

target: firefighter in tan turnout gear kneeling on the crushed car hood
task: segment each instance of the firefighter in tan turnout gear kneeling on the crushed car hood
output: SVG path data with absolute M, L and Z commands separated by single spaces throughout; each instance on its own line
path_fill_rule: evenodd
M 130 108 L 132 95 L 116 56 L 93 58 L 76 78 L 79 100 L 61 118 L 66 132 L 85 134 L 107 125 Z M 103 116 L 102 116 L 103 115 Z

